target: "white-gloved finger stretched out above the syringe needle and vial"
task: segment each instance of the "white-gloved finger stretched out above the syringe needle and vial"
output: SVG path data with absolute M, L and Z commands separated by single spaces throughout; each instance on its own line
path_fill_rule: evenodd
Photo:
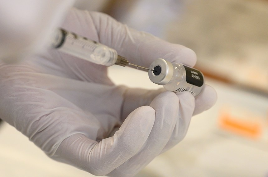
M 148 67 L 157 58 L 194 66 L 196 54 L 179 44 L 169 43 L 151 34 L 137 31 L 111 17 L 90 12 L 98 31 L 99 41 L 117 50 L 119 55 L 137 65 Z

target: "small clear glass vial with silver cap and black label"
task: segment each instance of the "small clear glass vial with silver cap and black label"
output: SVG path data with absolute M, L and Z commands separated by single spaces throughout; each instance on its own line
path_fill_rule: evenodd
M 150 80 L 158 85 L 163 85 L 168 91 L 188 91 L 197 96 L 204 87 L 204 75 L 194 68 L 181 63 L 171 63 L 159 58 L 152 62 L 148 75 Z

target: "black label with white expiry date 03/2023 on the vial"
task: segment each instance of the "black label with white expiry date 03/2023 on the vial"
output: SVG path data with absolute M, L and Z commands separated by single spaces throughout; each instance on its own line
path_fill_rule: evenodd
M 186 82 L 198 87 L 201 87 L 204 83 L 203 75 L 199 70 L 184 66 L 186 70 Z

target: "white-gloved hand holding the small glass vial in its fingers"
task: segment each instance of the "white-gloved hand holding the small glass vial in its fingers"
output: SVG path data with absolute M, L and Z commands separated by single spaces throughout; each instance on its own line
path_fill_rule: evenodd
M 193 66 L 194 52 L 129 29 L 107 15 L 72 9 L 62 27 L 108 45 L 132 63 L 157 58 Z M 127 68 L 126 68 L 127 70 Z M 185 136 L 191 117 L 216 101 L 188 92 L 115 86 L 107 67 L 46 50 L 0 66 L 0 117 L 49 157 L 93 175 L 133 176 Z

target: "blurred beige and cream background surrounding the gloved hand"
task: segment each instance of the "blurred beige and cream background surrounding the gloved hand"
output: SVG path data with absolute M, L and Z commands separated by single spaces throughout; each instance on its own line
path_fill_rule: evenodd
M 185 139 L 137 177 L 268 176 L 267 0 L 80 0 L 75 6 L 193 49 L 196 68 L 217 90 L 218 102 L 192 118 Z M 108 71 L 116 84 L 160 87 L 140 70 Z M 2 176 L 93 176 L 51 160 L 13 127 L 0 126 Z

